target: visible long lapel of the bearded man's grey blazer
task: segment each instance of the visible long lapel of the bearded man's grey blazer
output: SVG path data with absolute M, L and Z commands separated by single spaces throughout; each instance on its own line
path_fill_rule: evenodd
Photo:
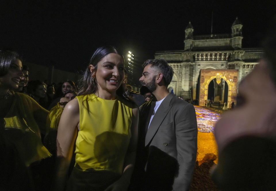
M 166 115 L 170 111 L 172 105 L 170 105 L 170 101 L 173 98 L 173 94 L 168 94 L 167 97 L 162 101 L 161 105 L 157 109 L 154 117 L 152 118 L 152 122 L 150 123 L 150 127 L 147 130 L 147 134 L 145 137 L 145 146 L 147 146 L 154 135 L 156 134 L 159 126 L 165 119 Z

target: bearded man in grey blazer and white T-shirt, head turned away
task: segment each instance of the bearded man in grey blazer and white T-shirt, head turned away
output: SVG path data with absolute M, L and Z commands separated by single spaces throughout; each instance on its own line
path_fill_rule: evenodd
M 142 190 L 189 190 L 197 153 L 195 109 L 168 92 L 174 72 L 166 60 L 147 60 L 143 66 L 139 80 L 155 98 L 140 107 Z

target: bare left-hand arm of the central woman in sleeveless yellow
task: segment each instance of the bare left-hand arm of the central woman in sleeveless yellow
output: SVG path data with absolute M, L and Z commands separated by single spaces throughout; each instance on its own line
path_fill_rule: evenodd
M 74 99 L 66 105 L 60 117 L 57 129 L 57 177 L 55 189 L 64 190 L 68 168 L 72 158 L 74 142 L 78 133 L 80 111 L 78 100 Z

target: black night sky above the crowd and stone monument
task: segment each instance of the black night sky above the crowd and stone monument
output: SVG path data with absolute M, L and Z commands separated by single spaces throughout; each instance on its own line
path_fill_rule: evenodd
M 104 44 L 132 50 L 139 64 L 156 51 L 181 50 L 189 21 L 194 35 L 211 33 L 212 11 L 213 34 L 231 33 L 238 16 L 243 47 L 259 47 L 276 12 L 274 0 L 26 2 L 0 1 L 0 48 L 71 72 Z

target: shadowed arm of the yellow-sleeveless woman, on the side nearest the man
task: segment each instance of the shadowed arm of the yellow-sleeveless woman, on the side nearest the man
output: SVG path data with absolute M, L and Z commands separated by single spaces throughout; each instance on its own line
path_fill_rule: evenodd
M 129 148 L 124 158 L 124 171 L 121 178 L 110 185 L 108 190 L 127 190 L 130 184 L 131 175 L 133 172 L 135 158 L 136 158 L 136 147 L 138 139 L 138 123 L 139 123 L 139 110 L 138 107 L 132 110 L 132 124 L 131 124 L 131 139 L 129 142 Z

